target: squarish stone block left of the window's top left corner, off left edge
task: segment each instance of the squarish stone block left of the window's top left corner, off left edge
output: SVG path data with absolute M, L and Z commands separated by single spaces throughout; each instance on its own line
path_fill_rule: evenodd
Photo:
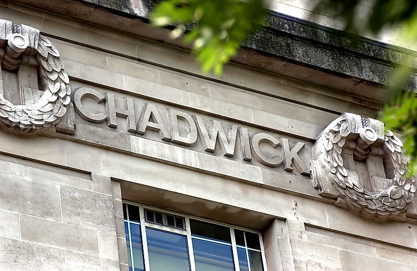
M 115 233 L 111 196 L 61 186 L 62 221 Z

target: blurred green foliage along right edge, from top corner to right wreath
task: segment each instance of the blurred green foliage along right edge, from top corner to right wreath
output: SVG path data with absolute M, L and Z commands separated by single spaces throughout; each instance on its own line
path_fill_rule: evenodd
M 416 0 L 319 0 L 314 11 L 343 20 L 344 30 L 354 34 L 378 35 L 396 28 L 402 43 L 417 41 Z M 385 130 L 402 134 L 404 150 L 410 158 L 409 176 L 417 173 L 417 97 L 415 90 L 406 85 L 416 64 L 416 56 L 410 56 L 396 67 L 387 86 L 391 94 L 386 101 L 391 102 L 380 114 Z

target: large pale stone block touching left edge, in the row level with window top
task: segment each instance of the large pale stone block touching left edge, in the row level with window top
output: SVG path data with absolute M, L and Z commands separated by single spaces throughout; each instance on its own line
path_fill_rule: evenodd
M 0 172 L 0 209 L 61 220 L 57 184 Z

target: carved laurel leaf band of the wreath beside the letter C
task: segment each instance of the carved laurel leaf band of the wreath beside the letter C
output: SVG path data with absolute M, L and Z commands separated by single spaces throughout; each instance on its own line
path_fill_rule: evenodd
M 33 49 L 41 85 L 46 87 L 42 97 L 35 104 L 15 105 L 0 95 L 0 121 L 8 128 L 29 133 L 56 124 L 71 102 L 70 80 L 58 50 L 41 34 L 37 48 Z

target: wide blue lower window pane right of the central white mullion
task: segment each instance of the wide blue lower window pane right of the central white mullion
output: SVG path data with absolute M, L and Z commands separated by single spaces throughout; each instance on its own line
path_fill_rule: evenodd
M 192 239 L 196 271 L 232 271 L 231 245 Z

